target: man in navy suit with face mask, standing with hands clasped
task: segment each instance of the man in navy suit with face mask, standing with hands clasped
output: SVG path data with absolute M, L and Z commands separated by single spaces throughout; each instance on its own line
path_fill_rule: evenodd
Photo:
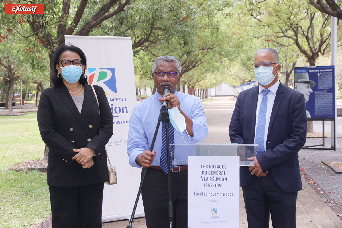
M 229 125 L 231 143 L 259 145 L 254 165 L 240 167 L 248 227 L 267 228 L 271 211 L 274 228 L 293 228 L 302 189 L 298 151 L 306 140 L 304 95 L 280 83 L 276 50 L 258 50 L 252 65 L 259 86 L 238 95 Z

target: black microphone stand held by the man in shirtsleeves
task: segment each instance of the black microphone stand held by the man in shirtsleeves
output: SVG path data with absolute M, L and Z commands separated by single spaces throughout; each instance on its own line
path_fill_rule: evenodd
M 169 145 L 169 114 L 166 113 L 166 109 L 167 107 L 161 107 L 160 108 L 160 113 L 159 113 L 159 117 L 158 117 L 158 123 L 157 123 L 157 127 L 156 130 L 154 132 L 154 136 L 153 136 L 153 140 L 152 140 L 152 144 L 151 144 L 151 148 L 150 151 L 152 152 L 154 144 L 156 142 L 156 138 L 157 138 L 157 133 L 158 133 L 158 129 L 159 129 L 159 125 L 160 122 L 164 122 L 165 123 L 165 130 L 166 130 L 166 143 L 167 143 L 167 162 L 168 162 L 168 187 L 169 187 L 169 219 L 170 219 L 170 228 L 173 227 L 173 205 L 172 205 L 172 198 L 171 198 L 171 171 L 170 171 L 170 145 Z M 144 179 L 145 179 L 145 175 L 146 175 L 146 170 L 147 168 L 143 167 L 142 168 L 142 174 L 141 174 L 141 180 L 140 180 L 140 186 L 138 189 L 138 194 L 136 196 L 135 199 L 135 203 L 133 206 L 133 212 L 131 215 L 131 219 L 129 224 L 126 226 L 126 228 L 132 228 L 132 222 L 133 222 L 133 217 L 135 214 L 135 210 L 136 210 L 136 206 L 138 204 L 139 201 L 139 197 L 140 197 L 140 193 L 141 193 L 141 188 L 143 186 L 144 183 Z

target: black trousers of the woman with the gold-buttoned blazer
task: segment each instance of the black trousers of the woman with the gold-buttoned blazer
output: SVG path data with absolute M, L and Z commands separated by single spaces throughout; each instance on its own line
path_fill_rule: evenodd
M 52 228 L 101 228 L 103 186 L 49 186 Z

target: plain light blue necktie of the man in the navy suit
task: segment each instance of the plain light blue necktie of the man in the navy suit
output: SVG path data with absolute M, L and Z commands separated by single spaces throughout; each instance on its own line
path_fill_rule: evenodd
M 266 125 L 266 112 L 267 112 L 267 94 L 271 90 L 263 90 L 262 100 L 259 109 L 257 134 L 255 134 L 254 144 L 259 144 L 257 155 L 265 152 L 265 125 Z

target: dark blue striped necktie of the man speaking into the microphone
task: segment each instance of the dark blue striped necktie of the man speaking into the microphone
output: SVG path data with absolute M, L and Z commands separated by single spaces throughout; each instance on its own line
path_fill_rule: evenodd
M 166 109 L 166 112 L 169 113 L 169 110 Z M 171 144 L 174 144 L 174 131 L 171 122 L 169 122 L 169 143 L 170 143 L 170 169 L 173 168 L 172 164 L 172 155 L 174 153 L 173 147 Z M 167 157 L 167 144 L 166 144 L 166 128 L 165 122 L 162 123 L 162 134 L 161 134 L 161 153 L 160 153 L 160 169 L 164 171 L 164 173 L 168 173 L 168 157 Z

